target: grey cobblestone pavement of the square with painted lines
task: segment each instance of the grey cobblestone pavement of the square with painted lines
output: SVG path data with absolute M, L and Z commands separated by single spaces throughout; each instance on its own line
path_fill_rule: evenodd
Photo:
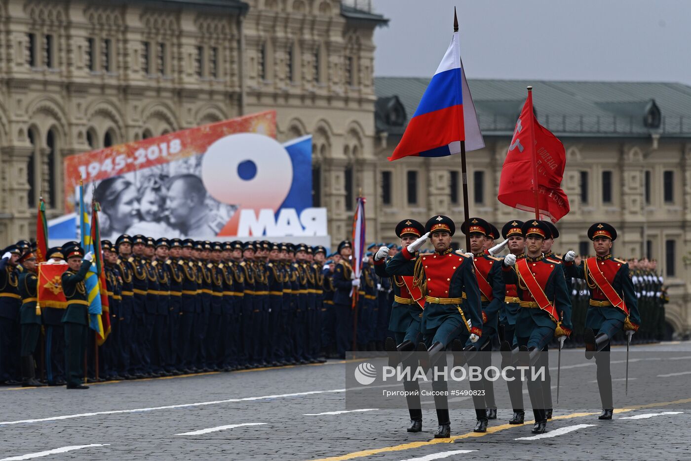
M 691 342 L 636 346 L 691 352 Z M 679 361 L 680 373 L 691 363 Z M 452 410 L 453 442 L 406 433 L 406 410 L 344 412 L 345 363 L 102 383 L 85 391 L 0 388 L 0 461 L 45 460 L 691 460 L 689 405 L 555 410 L 548 437 L 509 426 L 500 408 L 488 433 L 472 410 Z M 596 388 L 595 388 L 596 389 Z M 596 392 L 596 390 L 594 390 Z M 688 397 L 691 397 L 689 392 Z M 691 401 L 691 400 L 690 400 Z M 336 413 L 318 415 L 318 413 Z M 597 413 L 595 413 L 597 412 Z M 527 416 L 529 412 L 527 412 Z

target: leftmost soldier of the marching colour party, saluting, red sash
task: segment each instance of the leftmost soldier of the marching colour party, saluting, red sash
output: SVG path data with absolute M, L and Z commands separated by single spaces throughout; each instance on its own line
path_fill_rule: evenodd
M 415 221 L 415 219 L 404 219 L 396 226 L 396 235 L 401 239 L 401 245 L 408 246 L 419 239 L 419 237 L 422 237 L 424 230 L 424 226 Z M 394 290 L 394 301 L 388 329 L 394 333 L 395 339 L 386 338 L 385 347 L 390 356 L 393 357 L 389 361 L 389 365 L 396 366 L 402 361 L 404 367 L 412 368 L 417 366 L 417 359 L 412 354 L 415 351 L 415 347 L 417 347 L 417 343 L 422 339 L 422 334 L 420 334 L 422 307 L 417 302 L 422 293 L 419 292 L 419 289 L 413 287 L 412 277 L 403 277 L 389 273 L 388 266 L 386 265 L 386 255 L 389 253 L 390 248 L 388 246 L 381 246 L 374 256 L 374 266 L 377 275 L 381 277 L 382 282 L 390 278 L 393 282 Z M 415 296 L 413 296 L 411 291 L 415 293 Z M 417 383 L 417 380 L 406 379 L 403 382 L 403 386 L 406 390 L 406 401 L 408 413 L 410 414 L 410 425 L 407 431 L 420 432 L 422 431 L 422 406 L 420 404 L 419 383 Z

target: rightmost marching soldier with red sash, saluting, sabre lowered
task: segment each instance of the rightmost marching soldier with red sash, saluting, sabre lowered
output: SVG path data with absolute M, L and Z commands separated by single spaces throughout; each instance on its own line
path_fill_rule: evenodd
M 596 256 L 574 264 L 576 253 L 564 256 L 567 273 L 585 279 L 590 289 L 590 302 L 585 318 L 585 357 L 595 356 L 598 388 L 603 413 L 598 419 L 612 419 L 612 375 L 609 372 L 609 341 L 617 332 L 633 334 L 641 325 L 634 287 L 629 276 L 629 265 L 612 256 L 612 242 L 616 230 L 607 223 L 595 223 L 588 229 Z M 629 333 L 631 332 L 631 333 Z M 605 352 L 597 354 L 596 352 Z

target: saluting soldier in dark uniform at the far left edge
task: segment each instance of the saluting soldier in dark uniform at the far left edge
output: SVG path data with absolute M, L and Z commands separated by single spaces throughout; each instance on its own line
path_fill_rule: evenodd
M 21 249 L 10 245 L 0 260 L 0 383 L 19 384 L 19 257 Z

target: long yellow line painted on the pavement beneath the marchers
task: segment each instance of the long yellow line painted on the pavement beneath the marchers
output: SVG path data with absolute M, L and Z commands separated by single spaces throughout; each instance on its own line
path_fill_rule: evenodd
M 669 405 L 676 405 L 676 404 L 688 404 L 691 403 L 691 399 L 680 399 L 680 400 L 674 400 L 674 401 L 665 401 L 665 402 L 660 402 L 660 403 L 655 403 L 655 404 L 645 404 L 645 405 L 636 405 L 636 406 L 630 406 L 627 408 L 616 408 L 614 410 L 614 413 L 626 413 L 628 411 L 633 411 L 633 410 L 638 410 L 641 408 L 654 408 L 656 406 L 669 406 Z M 584 416 L 594 416 L 598 415 L 599 413 L 569 413 L 568 415 L 559 415 L 559 416 L 553 416 L 552 419 L 571 419 L 571 418 L 578 418 L 578 417 L 584 417 Z M 346 453 L 345 455 L 338 455 L 338 456 L 331 456 L 329 458 L 317 458 L 311 461 L 345 461 L 345 460 L 352 460 L 354 458 L 364 458 L 366 456 L 371 456 L 371 455 L 378 455 L 379 453 L 390 453 L 392 451 L 404 451 L 404 450 L 410 450 L 410 449 L 416 449 L 420 448 L 421 446 L 428 446 L 428 445 L 435 445 L 435 444 L 448 444 L 448 443 L 453 443 L 456 440 L 461 440 L 461 439 L 467 439 L 471 437 L 484 437 L 484 435 L 487 434 L 493 434 L 495 432 L 499 431 L 504 431 L 506 429 L 510 428 L 520 428 L 520 427 L 525 427 L 526 425 L 529 424 L 534 424 L 535 421 L 526 421 L 525 424 L 520 425 L 520 424 L 501 424 L 500 426 L 489 426 L 487 428 L 487 432 L 485 433 L 477 433 L 477 432 L 468 432 L 462 435 L 453 435 L 451 438 L 448 439 L 432 439 L 428 440 L 426 442 L 408 442 L 406 444 L 399 444 L 399 445 L 393 445 L 393 446 L 384 446 L 379 449 L 369 449 L 369 450 L 361 450 L 361 451 L 354 451 L 352 453 Z

